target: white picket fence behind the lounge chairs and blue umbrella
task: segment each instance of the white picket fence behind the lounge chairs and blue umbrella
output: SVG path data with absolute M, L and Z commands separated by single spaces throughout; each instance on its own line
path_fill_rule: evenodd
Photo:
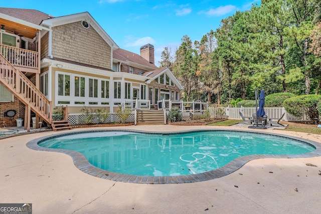
M 302 117 L 295 117 L 285 111 L 284 108 L 264 108 L 265 114 L 268 118 L 280 118 L 282 114 L 285 112 L 285 115 L 282 118 L 282 121 L 309 121 L 309 118 L 303 114 Z M 252 114 L 255 114 L 255 108 L 231 108 L 231 107 L 223 107 L 223 108 L 209 108 L 210 115 L 212 118 L 229 118 L 235 120 L 242 120 L 240 113 L 242 112 L 245 118 L 252 117 Z

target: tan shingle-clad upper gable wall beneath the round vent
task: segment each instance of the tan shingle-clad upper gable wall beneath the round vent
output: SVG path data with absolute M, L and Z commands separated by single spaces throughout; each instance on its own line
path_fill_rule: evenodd
M 90 26 L 75 22 L 52 28 L 54 57 L 111 69 L 111 47 Z

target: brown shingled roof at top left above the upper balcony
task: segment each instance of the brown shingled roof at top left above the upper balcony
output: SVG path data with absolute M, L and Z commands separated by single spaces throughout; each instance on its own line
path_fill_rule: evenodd
M 48 14 L 32 9 L 0 8 L 0 13 L 33 23 L 35 25 L 40 25 L 43 20 L 53 18 Z

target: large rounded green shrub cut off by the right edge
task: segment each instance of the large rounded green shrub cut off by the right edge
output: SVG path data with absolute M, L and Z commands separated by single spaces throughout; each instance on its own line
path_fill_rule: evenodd
M 301 95 L 296 97 L 291 97 L 283 102 L 285 110 L 297 117 L 306 113 L 311 122 L 314 121 L 314 118 L 319 117 L 318 103 L 321 100 L 321 95 Z

